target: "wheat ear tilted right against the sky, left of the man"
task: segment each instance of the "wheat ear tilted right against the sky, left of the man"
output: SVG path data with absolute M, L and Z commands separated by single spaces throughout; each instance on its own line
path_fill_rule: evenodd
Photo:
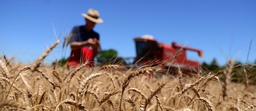
M 36 71 L 37 68 L 39 68 L 39 66 L 41 65 L 42 61 L 44 60 L 44 58 L 52 51 L 52 49 L 54 47 L 57 46 L 57 44 L 59 44 L 60 40 L 58 39 L 56 42 L 54 42 L 54 44 L 52 44 L 51 47 L 47 48 L 47 50 L 41 54 L 41 56 L 36 60 L 36 62 L 34 62 L 31 66 L 31 71 L 34 72 Z

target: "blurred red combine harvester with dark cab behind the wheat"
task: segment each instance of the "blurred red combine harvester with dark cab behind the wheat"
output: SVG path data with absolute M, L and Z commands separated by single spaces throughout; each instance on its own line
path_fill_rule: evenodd
M 172 44 L 159 43 L 152 36 L 142 36 L 134 38 L 136 47 L 136 57 L 134 64 L 139 66 L 146 64 L 163 63 L 163 69 L 176 70 L 180 67 L 186 72 L 198 72 L 201 70 L 199 62 L 187 59 L 186 51 L 197 52 L 202 57 L 203 52 L 200 49 L 185 47 L 178 45 L 176 42 Z M 180 50 L 182 48 L 182 50 Z

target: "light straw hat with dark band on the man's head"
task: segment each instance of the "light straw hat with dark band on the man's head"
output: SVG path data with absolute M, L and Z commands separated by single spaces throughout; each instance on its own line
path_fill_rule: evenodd
M 103 20 L 99 18 L 100 13 L 92 8 L 88 10 L 87 14 L 82 13 L 82 16 L 87 18 L 88 20 L 91 20 L 92 22 L 103 23 Z

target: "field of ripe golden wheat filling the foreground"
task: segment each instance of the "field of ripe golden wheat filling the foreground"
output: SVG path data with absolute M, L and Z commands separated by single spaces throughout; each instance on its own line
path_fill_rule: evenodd
M 243 83 L 231 82 L 232 59 L 218 72 L 188 76 L 180 68 L 163 72 L 150 64 L 45 66 L 42 61 L 58 43 L 31 65 L 1 56 L 1 111 L 255 111 L 256 89 L 246 70 Z

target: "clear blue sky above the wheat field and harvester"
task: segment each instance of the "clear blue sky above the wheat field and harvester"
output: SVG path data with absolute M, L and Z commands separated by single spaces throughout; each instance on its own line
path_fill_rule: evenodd
M 89 8 L 104 20 L 95 27 L 102 49 L 121 57 L 134 57 L 133 38 L 149 34 L 204 51 L 202 58 L 189 52 L 189 59 L 220 64 L 228 58 L 245 63 L 253 40 L 248 62 L 256 60 L 256 0 L 1 0 L 0 55 L 29 64 L 61 39 L 44 62 L 68 57 L 63 38 L 85 24 L 81 13 Z

